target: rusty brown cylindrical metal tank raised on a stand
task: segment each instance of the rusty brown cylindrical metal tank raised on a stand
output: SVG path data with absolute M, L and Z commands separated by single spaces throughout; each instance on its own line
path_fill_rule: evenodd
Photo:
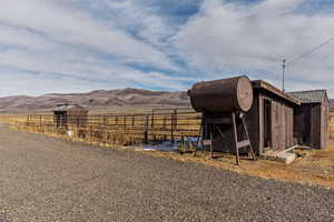
M 253 87 L 246 75 L 198 82 L 188 95 L 197 112 L 247 112 L 253 104 Z

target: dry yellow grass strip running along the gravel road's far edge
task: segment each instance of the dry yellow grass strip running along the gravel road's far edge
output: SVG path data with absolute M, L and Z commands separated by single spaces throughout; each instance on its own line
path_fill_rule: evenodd
M 20 130 L 30 130 L 35 132 L 41 132 L 48 135 L 69 139 L 72 141 L 88 142 L 91 144 L 104 145 L 104 147 L 118 147 L 119 144 L 131 143 L 134 147 L 140 145 L 143 142 L 141 135 L 138 140 L 134 138 L 134 132 L 131 129 L 112 129 L 112 130 L 102 130 L 101 124 L 89 124 L 88 130 L 85 134 L 85 138 L 78 137 L 80 130 L 72 128 L 72 137 L 68 137 L 65 132 L 57 130 L 55 128 L 39 128 L 38 124 L 33 128 L 27 125 L 26 115 L 0 115 L 0 121 L 10 123 L 13 128 Z M 51 121 L 51 120 L 50 120 Z M 110 124 L 112 124 L 110 120 Z M 119 120 L 125 121 L 128 120 Z M 137 121 L 137 120 L 136 120 Z M 139 120 L 138 120 L 139 121 Z M 157 124 L 164 124 L 164 120 L 155 119 Z M 163 122 L 161 122 L 163 121 Z M 187 120 L 178 120 L 179 123 L 186 123 Z M 334 113 L 331 113 L 330 123 L 334 124 Z M 139 124 L 139 123 L 138 123 Z M 197 123 L 198 124 L 198 123 Z M 101 128 L 101 129 L 100 129 Z M 140 132 L 141 133 L 141 132 Z M 331 128 L 331 135 L 334 134 L 334 127 Z M 229 170 L 233 172 L 248 174 L 252 176 L 259 176 L 264 179 L 282 180 L 282 181 L 293 181 L 304 184 L 322 185 L 326 188 L 334 189 L 334 143 L 332 142 L 326 150 L 310 150 L 310 151 L 297 151 L 299 158 L 292 163 L 291 165 L 285 165 L 283 163 L 277 163 L 267 160 L 243 160 L 242 164 L 237 167 L 235 164 L 235 157 L 229 154 L 217 154 L 220 155 L 215 160 L 212 160 L 205 153 L 199 153 L 197 157 L 194 157 L 190 153 L 179 154 L 174 152 L 148 152 L 141 151 L 155 157 L 170 158 L 184 162 L 197 162 L 206 165 L 210 165 L 217 169 Z

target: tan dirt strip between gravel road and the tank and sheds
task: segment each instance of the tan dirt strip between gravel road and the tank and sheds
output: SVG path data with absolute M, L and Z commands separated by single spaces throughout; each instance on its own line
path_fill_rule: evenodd
M 212 160 L 204 153 L 198 157 L 170 152 L 146 152 L 150 155 L 170 158 L 184 162 L 199 162 L 217 169 L 229 170 L 252 176 L 292 181 L 303 184 L 321 185 L 334 189 L 334 142 L 326 150 L 298 150 L 298 158 L 289 165 L 269 160 L 242 160 L 235 164 L 235 158 L 228 154 L 217 154 L 220 158 Z

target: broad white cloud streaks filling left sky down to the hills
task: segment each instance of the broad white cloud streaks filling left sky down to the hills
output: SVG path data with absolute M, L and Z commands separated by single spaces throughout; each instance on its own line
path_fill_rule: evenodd
M 63 3 L 59 8 L 53 1 L 2 2 L 0 95 L 138 85 L 180 90 L 191 81 L 128 68 L 125 63 L 177 69 L 150 44 Z

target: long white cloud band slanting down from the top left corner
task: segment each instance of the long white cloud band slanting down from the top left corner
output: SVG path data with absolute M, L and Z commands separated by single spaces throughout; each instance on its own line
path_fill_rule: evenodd
M 3 0 L 0 20 L 40 31 L 63 43 L 115 54 L 127 62 L 176 69 L 164 53 L 112 28 L 112 23 L 106 27 L 82 10 L 68 9 L 55 2 Z

